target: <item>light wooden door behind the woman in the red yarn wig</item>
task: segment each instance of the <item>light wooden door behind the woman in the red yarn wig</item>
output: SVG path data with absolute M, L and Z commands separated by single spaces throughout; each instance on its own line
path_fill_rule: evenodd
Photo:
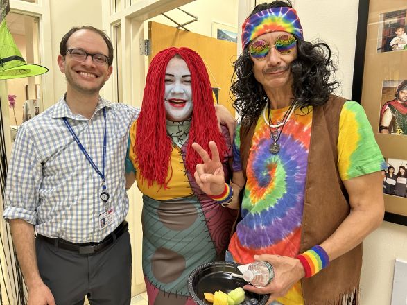
M 220 88 L 218 92 L 219 104 L 227 107 L 227 110 L 234 116 L 229 89 L 233 74 L 232 62 L 237 57 L 237 44 L 235 42 L 218 40 L 153 21 L 148 23 L 148 39 L 151 44 L 149 62 L 159 51 L 170 46 L 187 46 L 196 51 L 207 66 L 212 87 Z

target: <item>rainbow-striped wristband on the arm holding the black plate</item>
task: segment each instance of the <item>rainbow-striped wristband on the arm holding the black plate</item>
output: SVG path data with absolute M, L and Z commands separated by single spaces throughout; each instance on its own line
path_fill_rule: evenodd
M 329 256 L 320 245 L 313 246 L 296 258 L 304 267 L 305 277 L 312 277 L 329 265 Z

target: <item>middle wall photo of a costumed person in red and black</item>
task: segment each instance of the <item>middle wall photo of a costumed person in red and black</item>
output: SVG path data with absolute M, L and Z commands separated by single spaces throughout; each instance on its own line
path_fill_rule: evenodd
M 379 132 L 407 135 L 407 80 L 384 80 Z

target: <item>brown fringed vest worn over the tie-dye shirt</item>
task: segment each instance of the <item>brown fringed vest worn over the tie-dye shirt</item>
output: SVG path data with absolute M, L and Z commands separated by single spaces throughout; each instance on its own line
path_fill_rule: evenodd
M 331 236 L 350 211 L 347 191 L 337 166 L 339 116 L 345 101 L 330 96 L 325 105 L 313 108 L 300 253 Z M 245 179 L 256 123 L 257 120 L 241 124 L 240 152 Z M 313 277 L 302 279 L 305 304 L 342 305 L 343 300 L 345 304 L 358 304 L 361 267 L 362 244 L 331 261 Z

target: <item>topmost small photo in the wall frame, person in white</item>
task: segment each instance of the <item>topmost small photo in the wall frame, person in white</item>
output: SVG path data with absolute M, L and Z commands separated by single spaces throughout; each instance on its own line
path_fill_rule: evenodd
M 395 10 L 379 15 L 377 52 L 407 50 L 407 10 Z

